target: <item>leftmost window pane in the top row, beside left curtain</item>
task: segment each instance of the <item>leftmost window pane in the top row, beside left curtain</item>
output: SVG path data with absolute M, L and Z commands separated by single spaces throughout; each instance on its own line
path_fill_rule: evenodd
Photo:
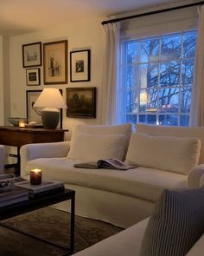
M 136 63 L 139 61 L 139 43 L 137 41 L 130 41 L 126 43 L 126 63 Z

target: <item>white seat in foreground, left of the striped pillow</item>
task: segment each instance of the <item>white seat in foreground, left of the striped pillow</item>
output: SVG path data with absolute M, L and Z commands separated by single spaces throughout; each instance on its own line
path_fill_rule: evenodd
M 139 256 L 143 234 L 149 218 L 99 243 L 73 254 L 74 256 Z

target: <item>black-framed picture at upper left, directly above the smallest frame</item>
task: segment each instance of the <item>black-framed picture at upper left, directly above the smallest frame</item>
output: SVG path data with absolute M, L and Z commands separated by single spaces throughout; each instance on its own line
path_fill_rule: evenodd
M 41 66 L 41 42 L 22 44 L 22 66 Z

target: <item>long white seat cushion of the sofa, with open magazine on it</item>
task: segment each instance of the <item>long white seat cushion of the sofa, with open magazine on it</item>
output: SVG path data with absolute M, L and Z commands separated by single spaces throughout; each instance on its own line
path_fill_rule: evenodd
M 41 158 L 27 162 L 27 172 L 42 169 L 42 177 L 66 183 L 93 187 L 144 200 L 156 201 L 164 188 L 186 188 L 187 175 L 137 167 L 127 171 L 76 168 L 67 158 Z M 29 174 L 29 172 L 28 172 Z

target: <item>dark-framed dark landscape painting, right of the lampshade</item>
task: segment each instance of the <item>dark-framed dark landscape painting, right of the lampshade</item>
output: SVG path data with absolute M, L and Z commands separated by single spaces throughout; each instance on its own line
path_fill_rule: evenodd
M 96 88 L 68 88 L 67 117 L 96 118 Z

